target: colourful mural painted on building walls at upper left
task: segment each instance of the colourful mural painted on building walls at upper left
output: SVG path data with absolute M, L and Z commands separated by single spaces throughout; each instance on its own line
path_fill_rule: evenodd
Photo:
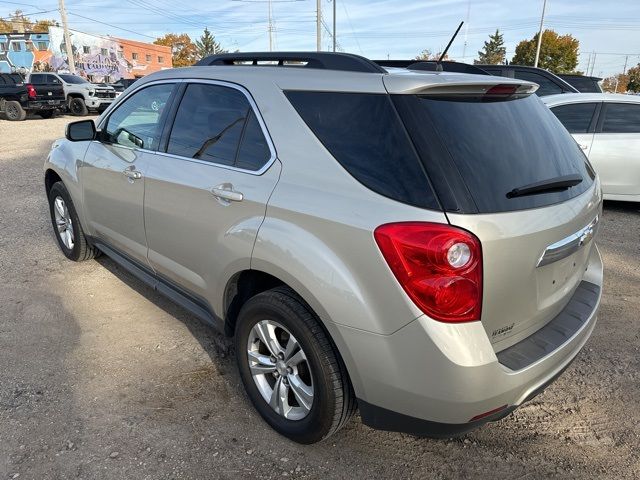
M 118 57 L 120 45 L 108 37 L 71 31 L 76 72 L 94 82 L 131 78 L 133 65 Z M 0 34 L 0 72 L 69 71 L 64 33 L 49 27 L 49 33 Z

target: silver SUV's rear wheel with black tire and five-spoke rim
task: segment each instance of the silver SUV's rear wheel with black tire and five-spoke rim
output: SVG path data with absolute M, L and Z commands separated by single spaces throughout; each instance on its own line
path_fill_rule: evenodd
M 346 368 L 319 320 L 291 289 L 249 299 L 235 335 L 240 377 L 278 433 L 311 444 L 333 435 L 356 409 Z

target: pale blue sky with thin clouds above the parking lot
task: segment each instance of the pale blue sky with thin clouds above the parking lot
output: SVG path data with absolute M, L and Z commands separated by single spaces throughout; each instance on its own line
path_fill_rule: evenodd
M 335 0 L 340 51 L 374 59 L 441 51 L 465 21 L 449 56 L 472 63 L 495 29 L 507 58 L 538 30 L 543 0 Z M 272 0 L 274 50 L 316 49 L 316 0 Z M 58 0 L 0 0 L 0 16 L 16 8 L 30 18 L 59 20 Z M 228 50 L 269 49 L 268 0 L 66 0 L 69 26 L 100 35 L 153 41 L 166 33 L 199 37 L 205 27 Z M 321 0 L 322 47 L 332 44 L 333 3 Z M 580 41 L 578 69 L 609 76 L 640 63 L 640 0 L 548 0 L 545 28 Z M 593 63 L 595 58 L 595 63 Z M 590 63 L 591 61 L 591 63 Z

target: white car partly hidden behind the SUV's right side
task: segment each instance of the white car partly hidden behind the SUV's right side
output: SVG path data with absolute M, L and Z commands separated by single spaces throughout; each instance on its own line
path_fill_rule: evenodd
M 543 100 L 598 172 L 605 200 L 640 202 L 640 98 L 583 93 Z

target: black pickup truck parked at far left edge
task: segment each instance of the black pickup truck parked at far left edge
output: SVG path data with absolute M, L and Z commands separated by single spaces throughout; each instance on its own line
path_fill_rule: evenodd
M 18 73 L 0 73 L 0 113 L 7 120 L 24 120 L 27 113 L 50 118 L 58 108 L 64 108 L 61 83 L 45 81 L 36 85 L 25 83 Z

